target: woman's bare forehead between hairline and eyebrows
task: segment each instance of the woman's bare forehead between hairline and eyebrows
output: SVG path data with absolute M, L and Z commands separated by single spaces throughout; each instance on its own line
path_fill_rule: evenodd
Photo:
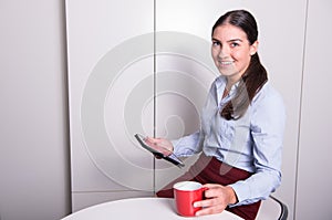
M 212 33 L 212 38 L 219 41 L 230 41 L 235 39 L 245 41 L 247 40 L 247 34 L 242 29 L 227 23 L 217 27 Z

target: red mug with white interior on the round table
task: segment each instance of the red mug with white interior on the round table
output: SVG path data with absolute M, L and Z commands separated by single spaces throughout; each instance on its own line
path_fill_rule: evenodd
M 173 186 L 176 210 L 179 216 L 194 217 L 201 207 L 194 207 L 195 201 L 204 198 L 204 188 L 197 181 L 180 181 Z

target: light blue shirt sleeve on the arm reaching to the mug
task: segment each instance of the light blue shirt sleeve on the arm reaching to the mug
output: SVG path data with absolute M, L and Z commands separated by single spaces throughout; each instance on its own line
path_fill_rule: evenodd
M 281 182 L 281 156 L 286 111 L 282 98 L 273 91 L 256 98 L 250 123 L 256 171 L 246 180 L 230 185 L 238 197 L 235 206 L 267 199 Z

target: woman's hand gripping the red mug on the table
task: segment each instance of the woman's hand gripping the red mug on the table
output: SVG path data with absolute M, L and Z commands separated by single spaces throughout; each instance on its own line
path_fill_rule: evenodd
M 205 200 L 196 201 L 194 207 L 204 207 L 204 209 L 196 212 L 196 216 L 205 216 L 222 212 L 228 205 L 237 202 L 237 196 L 231 187 L 224 187 L 216 184 L 207 184 L 203 187 L 205 190 Z

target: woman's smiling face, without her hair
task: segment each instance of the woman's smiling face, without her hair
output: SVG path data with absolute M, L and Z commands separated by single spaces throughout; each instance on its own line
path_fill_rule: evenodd
M 238 82 L 249 66 L 251 55 L 257 52 L 258 42 L 250 45 L 246 32 L 222 24 L 212 33 L 212 59 L 219 72 L 227 76 L 230 85 Z

